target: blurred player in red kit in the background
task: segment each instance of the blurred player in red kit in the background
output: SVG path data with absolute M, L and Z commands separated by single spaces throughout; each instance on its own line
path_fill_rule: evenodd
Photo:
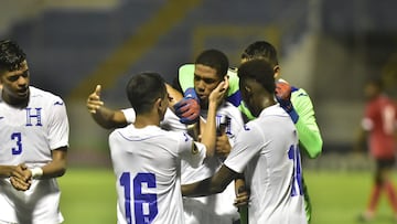
M 397 196 L 390 178 L 396 163 L 396 104 L 385 94 L 380 79 L 368 81 L 364 90 L 367 103 L 357 147 L 368 140 L 369 154 L 375 159 L 376 168 L 369 202 L 360 218 L 361 221 L 374 218 L 380 193 L 385 191 L 394 218 L 397 220 Z

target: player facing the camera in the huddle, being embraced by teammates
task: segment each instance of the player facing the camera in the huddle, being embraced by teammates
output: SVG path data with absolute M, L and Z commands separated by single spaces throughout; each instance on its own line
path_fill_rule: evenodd
M 194 92 L 200 102 L 200 118 L 206 119 L 207 98 L 215 86 L 222 82 L 228 70 L 228 60 L 217 50 L 202 52 L 194 62 Z M 176 105 L 178 106 L 178 105 Z M 230 152 L 236 135 L 244 127 L 242 113 L 228 102 L 223 102 L 216 111 L 218 137 L 216 141 L 216 157 L 208 158 L 200 168 L 182 167 L 182 183 L 203 180 L 214 174 Z M 223 128 L 224 127 L 224 128 Z M 202 132 L 203 131 L 197 131 Z M 215 195 L 184 199 L 184 210 L 187 224 L 232 224 L 238 221 L 237 207 L 233 205 L 235 186 L 230 183 L 227 189 Z

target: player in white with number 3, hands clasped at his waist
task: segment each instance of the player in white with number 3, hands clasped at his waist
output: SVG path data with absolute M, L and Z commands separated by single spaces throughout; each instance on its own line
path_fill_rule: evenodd
M 57 224 L 66 171 L 68 120 L 64 102 L 30 86 L 25 54 L 0 41 L 0 223 Z

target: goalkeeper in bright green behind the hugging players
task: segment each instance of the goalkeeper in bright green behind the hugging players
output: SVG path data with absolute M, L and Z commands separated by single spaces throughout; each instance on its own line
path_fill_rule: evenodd
M 262 58 L 270 63 L 275 71 L 275 79 L 277 81 L 277 99 L 280 105 L 288 111 L 294 121 L 299 134 L 299 147 L 304 149 L 303 152 L 313 159 L 319 157 L 322 151 L 322 137 L 319 126 L 315 121 L 313 104 L 303 88 L 290 86 L 286 81 L 281 79 L 281 66 L 278 63 L 277 51 L 273 45 L 266 41 L 257 41 L 249 44 L 242 54 L 242 63 L 255 58 Z M 194 65 L 186 64 L 179 70 L 179 84 L 182 92 L 191 89 L 194 81 Z M 227 100 L 238 107 L 248 119 L 254 119 L 249 109 L 244 104 L 240 89 L 238 86 L 238 76 L 235 70 L 229 70 L 229 89 Z M 193 108 L 192 110 L 194 110 Z M 308 220 L 311 220 L 312 206 L 308 193 L 308 186 L 303 181 L 305 211 Z

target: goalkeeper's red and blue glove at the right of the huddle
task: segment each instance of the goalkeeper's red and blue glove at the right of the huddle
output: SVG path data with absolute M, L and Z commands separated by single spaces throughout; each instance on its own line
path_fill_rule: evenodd
M 291 85 L 285 81 L 278 81 L 276 83 L 276 98 L 280 106 L 289 114 L 293 124 L 297 124 L 299 116 L 291 103 Z

